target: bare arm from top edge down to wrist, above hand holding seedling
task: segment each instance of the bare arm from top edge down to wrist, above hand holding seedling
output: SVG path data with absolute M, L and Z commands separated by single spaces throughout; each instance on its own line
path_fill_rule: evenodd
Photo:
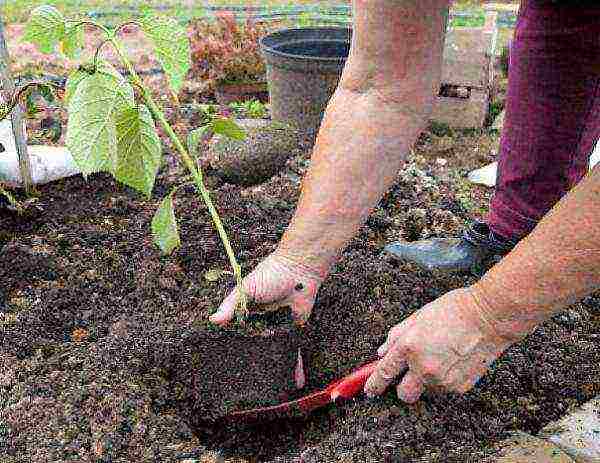
M 348 63 L 279 251 L 325 274 L 391 186 L 439 88 L 447 0 L 355 0 Z

